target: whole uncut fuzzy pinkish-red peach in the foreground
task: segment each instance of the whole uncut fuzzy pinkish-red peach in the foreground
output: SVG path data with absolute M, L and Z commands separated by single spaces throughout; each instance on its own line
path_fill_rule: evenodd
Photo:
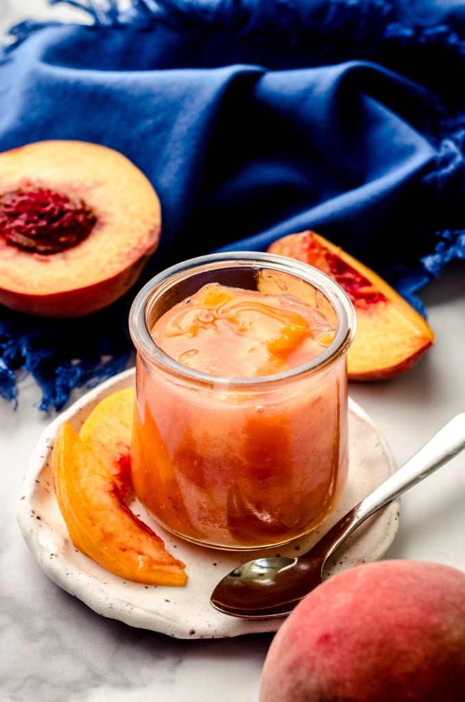
M 383 561 L 345 571 L 271 644 L 261 702 L 463 702 L 465 574 Z

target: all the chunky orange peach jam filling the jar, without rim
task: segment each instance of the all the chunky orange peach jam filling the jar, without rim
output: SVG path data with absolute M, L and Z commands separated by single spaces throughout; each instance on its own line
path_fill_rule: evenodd
M 292 295 L 208 284 L 152 328 L 164 352 L 212 375 L 183 383 L 138 357 L 132 477 L 170 531 L 220 548 L 287 543 L 317 527 L 346 481 L 345 357 L 263 388 L 334 338 L 320 311 Z

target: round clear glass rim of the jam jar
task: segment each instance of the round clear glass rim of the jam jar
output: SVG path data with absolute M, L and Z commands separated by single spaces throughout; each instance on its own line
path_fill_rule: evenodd
M 161 289 L 163 284 L 176 279 L 181 282 L 183 279 L 194 274 L 195 272 L 204 269 L 211 264 L 211 268 L 224 269 L 235 267 L 236 265 L 249 265 L 250 267 L 261 270 L 275 270 L 281 273 L 287 273 L 294 277 L 300 278 L 310 285 L 313 285 L 323 295 L 332 301 L 338 315 L 338 329 L 332 340 L 332 343 L 323 350 L 317 357 L 312 359 L 307 364 L 296 366 L 295 368 L 284 371 L 283 373 L 275 373 L 272 376 L 258 376 L 253 378 L 230 378 L 228 376 L 214 376 L 211 373 L 204 373 L 185 366 L 171 356 L 167 355 L 155 343 L 150 329 L 148 329 L 146 310 L 148 303 L 152 298 L 153 293 L 157 289 Z M 339 284 L 337 284 L 329 275 L 318 270 L 317 268 L 303 263 L 302 261 L 288 258 L 287 256 L 278 256 L 271 253 L 262 253 L 255 251 L 230 251 L 225 253 L 211 253 L 207 256 L 198 256 L 176 263 L 166 270 L 163 270 L 155 277 L 150 279 L 143 286 L 133 301 L 129 312 L 129 331 L 133 344 L 143 357 L 149 362 L 155 362 L 166 371 L 175 373 L 181 378 L 190 378 L 197 383 L 208 385 L 231 385 L 235 388 L 250 387 L 251 385 L 271 385 L 272 383 L 280 383 L 283 380 L 315 373 L 334 361 L 348 350 L 355 334 L 355 310 L 351 300 Z

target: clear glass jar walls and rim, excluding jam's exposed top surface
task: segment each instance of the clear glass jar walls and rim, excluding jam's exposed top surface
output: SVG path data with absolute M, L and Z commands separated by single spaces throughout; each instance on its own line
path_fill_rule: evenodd
M 157 319 L 207 283 L 291 294 L 318 310 L 334 340 L 275 375 L 214 376 L 166 355 Z M 355 313 L 319 270 L 267 253 L 219 253 L 179 263 L 138 293 L 131 470 L 140 501 L 173 534 L 214 548 L 280 545 L 315 529 L 348 472 L 346 352 Z

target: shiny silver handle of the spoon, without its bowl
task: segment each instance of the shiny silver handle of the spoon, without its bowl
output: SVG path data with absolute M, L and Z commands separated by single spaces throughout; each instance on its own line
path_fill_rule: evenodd
M 393 501 L 465 449 L 465 413 L 457 414 L 391 477 L 355 505 L 312 549 L 325 559 L 374 512 Z M 303 555 L 305 558 L 305 555 Z

